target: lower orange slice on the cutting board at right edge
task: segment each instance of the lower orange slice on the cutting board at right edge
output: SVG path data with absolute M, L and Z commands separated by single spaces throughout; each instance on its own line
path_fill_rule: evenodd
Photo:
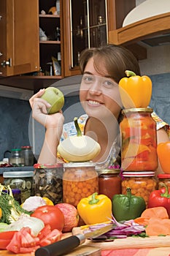
M 145 232 L 147 236 L 170 235 L 170 219 L 150 218 Z

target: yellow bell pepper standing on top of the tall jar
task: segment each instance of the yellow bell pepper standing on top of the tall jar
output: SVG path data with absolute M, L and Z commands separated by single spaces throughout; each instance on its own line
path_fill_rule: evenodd
M 152 81 L 147 75 L 139 76 L 125 70 L 125 75 L 119 81 L 120 98 L 124 108 L 147 108 L 152 95 Z

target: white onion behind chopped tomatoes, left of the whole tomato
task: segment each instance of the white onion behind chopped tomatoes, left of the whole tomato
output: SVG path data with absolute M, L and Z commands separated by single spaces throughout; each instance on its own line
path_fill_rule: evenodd
M 5 231 L 18 230 L 20 231 L 23 227 L 30 227 L 34 236 L 37 236 L 38 233 L 45 227 L 44 222 L 41 219 L 30 217 L 26 214 L 21 214 L 18 220 L 12 222 L 7 226 Z

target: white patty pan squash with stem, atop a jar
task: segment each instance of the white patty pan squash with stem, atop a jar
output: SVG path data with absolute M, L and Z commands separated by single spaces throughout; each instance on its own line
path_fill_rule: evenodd
M 95 158 L 101 146 L 87 135 L 82 135 L 77 118 L 74 118 L 77 135 L 70 136 L 58 145 L 58 153 L 69 162 L 85 162 Z

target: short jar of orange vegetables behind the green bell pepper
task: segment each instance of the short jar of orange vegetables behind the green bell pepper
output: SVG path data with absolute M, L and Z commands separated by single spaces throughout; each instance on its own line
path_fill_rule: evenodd
M 155 172 L 124 172 L 122 180 L 122 194 L 126 195 L 126 189 L 131 188 L 131 194 L 143 197 L 146 206 L 150 193 L 158 188 Z

